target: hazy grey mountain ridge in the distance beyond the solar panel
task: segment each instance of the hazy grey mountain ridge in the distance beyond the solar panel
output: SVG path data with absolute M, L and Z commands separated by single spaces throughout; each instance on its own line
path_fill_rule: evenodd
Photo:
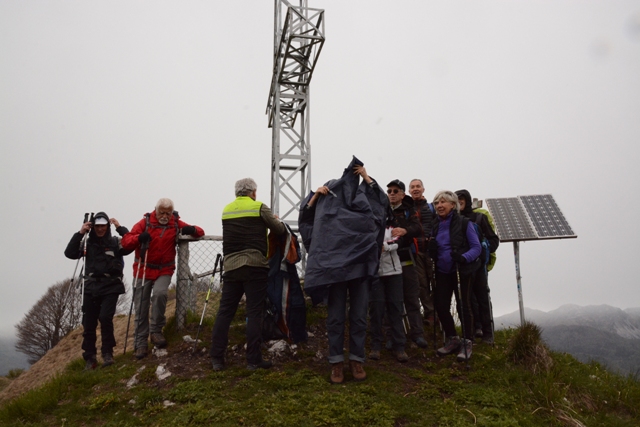
M 544 312 L 525 308 L 525 320 L 542 328 L 554 351 L 595 360 L 620 373 L 640 373 L 640 308 L 563 305 Z M 520 326 L 520 311 L 496 317 L 496 329 Z

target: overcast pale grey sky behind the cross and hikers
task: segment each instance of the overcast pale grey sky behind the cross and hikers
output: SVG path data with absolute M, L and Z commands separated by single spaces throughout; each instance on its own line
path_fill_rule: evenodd
M 356 155 L 429 198 L 551 193 L 579 237 L 521 244 L 525 305 L 640 306 L 640 3 L 310 6 L 313 188 Z M 237 179 L 269 202 L 272 43 L 273 1 L 0 2 L 0 331 L 71 276 L 84 212 L 131 227 L 170 197 L 220 234 Z M 511 243 L 490 285 L 517 310 Z

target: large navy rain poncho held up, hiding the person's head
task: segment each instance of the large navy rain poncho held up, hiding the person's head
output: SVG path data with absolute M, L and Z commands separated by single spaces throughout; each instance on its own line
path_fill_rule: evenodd
M 328 285 L 377 274 L 389 199 L 374 180 L 360 183 L 353 173 L 362 165 L 353 157 L 342 177 L 325 184 L 331 193 L 313 206 L 302 202 L 298 225 L 307 249 L 304 290 L 314 303 Z

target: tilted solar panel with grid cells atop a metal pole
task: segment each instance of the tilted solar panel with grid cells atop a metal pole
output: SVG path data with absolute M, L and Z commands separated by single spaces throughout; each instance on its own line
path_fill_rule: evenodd
M 578 237 L 551 194 L 487 199 L 502 242 Z

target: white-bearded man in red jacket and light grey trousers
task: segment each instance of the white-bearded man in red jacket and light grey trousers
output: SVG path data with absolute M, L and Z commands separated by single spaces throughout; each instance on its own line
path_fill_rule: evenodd
M 144 282 L 136 285 L 136 289 L 133 290 L 136 305 L 136 359 L 147 356 L 149 332 L 153 345 L 158 348 L 167 345 L 162 328 L 167 323 L 164 312 L 167 308 L 167 289 L 176 269 L 178 233 L 193 237 L 204 236 L 202 228 L 181 221 L 178 212 L 173 210 L 173 202 L 163 198 L 158 200 L 153 212 L 145 214 L 145 217 L 133 226 L 131 232 L 122 238 L 123 248 L 136 250 L 133 264 L 134 281 L 141 283 L 144 277 Z

